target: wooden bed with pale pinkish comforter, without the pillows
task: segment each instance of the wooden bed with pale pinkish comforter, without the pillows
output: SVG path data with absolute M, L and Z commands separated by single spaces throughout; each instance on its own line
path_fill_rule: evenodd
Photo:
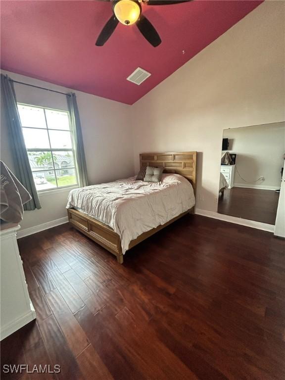
M 116 255 L 193 210 L 196 152 L 140 154 L 140 167 L 162 167 L 160 183 L 136 177 L 71 190 L 69 222 L 83 234 Z

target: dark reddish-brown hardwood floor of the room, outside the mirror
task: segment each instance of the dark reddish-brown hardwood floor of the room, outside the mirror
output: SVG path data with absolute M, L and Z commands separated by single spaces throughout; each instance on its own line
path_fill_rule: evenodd
M 1 342 L 1 379 L 284 380 L 285 240 L 187 215 L 123 265 L 62 225 L 19 240 L 37 321 Z

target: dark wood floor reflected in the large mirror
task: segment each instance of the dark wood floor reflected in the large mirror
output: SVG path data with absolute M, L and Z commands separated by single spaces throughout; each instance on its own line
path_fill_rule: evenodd
M 256 222 L 275 224 L 279 192 L 232 188 L 219 197 L 218 213 Z

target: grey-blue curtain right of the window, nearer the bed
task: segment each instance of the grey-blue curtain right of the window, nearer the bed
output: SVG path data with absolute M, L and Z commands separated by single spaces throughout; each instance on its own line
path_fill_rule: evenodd
M 76 95 L 74 93 L 70 93 L 66 95 L 66 98 L 70 115 L 71 130 L 73 135 L 73 144 L 75 149 L 75 159 L 79 186 L 84 187 L 88 186 L 88 176 Z

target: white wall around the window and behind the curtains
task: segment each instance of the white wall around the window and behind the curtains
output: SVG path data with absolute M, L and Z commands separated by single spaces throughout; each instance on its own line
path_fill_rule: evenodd
M 23 75 L 9 73 L 16 81 L 68 92 L 70 90 Z M 33 105 L 67 110 L 64 95 L 15 84 L 17 101 Z M 74 91 L 82 124 L 88 176 L 91 184 L 112 181 L 133 175 L 133 132 L 129 123 L 130 106 L 95 95 Z M 7 124 L 1 104 L 0 158 L 12 170 L 13 161 L 7 139 Z M 40 193 L 42 209 L 27 211 L 21 223 L 22 229 L 63 218 L 69 190 Z

